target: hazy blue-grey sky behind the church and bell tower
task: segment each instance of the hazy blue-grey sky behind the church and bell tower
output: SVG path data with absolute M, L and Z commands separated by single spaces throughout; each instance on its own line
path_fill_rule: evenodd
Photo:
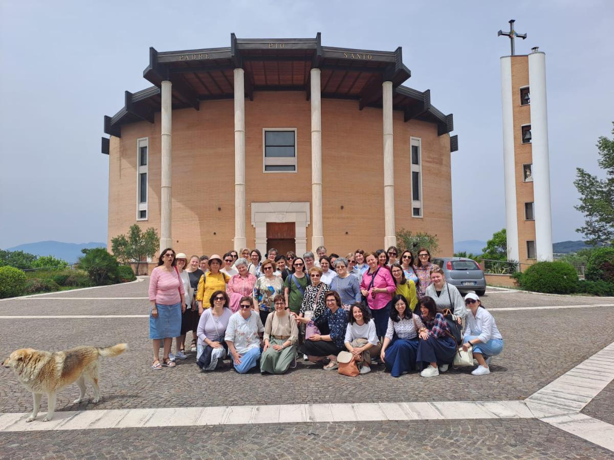
M 505 227 L 499 57 L 546 53 L 553 241 L 581 239 L 575 169 L 603 177 L 599 136 L 614 113 L 614 2 L 7 1 L 0 0 L 0 248 L 39 240 L 105 242 L 103 115 L 123 107 L 158 51 L 227 47 L 240 38 L 314 37 L 394 51 L 454 113 L 454 240 Z M 397 175 L 398 172 L 395 172 Z

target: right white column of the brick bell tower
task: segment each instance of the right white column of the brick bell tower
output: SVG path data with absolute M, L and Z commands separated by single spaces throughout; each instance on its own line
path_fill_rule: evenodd
M 531 151 L 535 206 L 535 252 L 538 261 L 551 261 L 550 159 L 548 158 L 548 108 L 546 107 L 546 55 L 529 54 L 531 96 Z

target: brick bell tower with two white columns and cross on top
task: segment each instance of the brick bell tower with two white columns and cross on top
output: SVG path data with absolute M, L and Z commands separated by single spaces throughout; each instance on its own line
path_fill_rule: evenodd
M 507 256 L 532 264 L 553 259 L 546 55 L 537 47 L 516 55 L 514 39 L 527 35 L 516 33 L 514 22 L 497 34 L 511 44 L 511 55 L 501 57 Z

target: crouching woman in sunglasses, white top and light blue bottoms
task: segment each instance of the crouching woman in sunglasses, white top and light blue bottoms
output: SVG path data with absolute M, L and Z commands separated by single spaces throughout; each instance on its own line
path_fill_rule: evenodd
M 264 330 L 260 315 L 252 310 L 251 297 L 242 297 L 239 311 L 230 316 L 224 335 L 233 367 L 239 374 L 246 374 L 256 366 L 260 358 L 260 337 Z

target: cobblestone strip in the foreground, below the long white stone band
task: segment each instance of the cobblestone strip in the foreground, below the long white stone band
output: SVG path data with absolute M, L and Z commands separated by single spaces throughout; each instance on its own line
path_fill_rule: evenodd
M 0 434 L 5 458 L 552 458 L 611 451 L 538 420 L 300 423 Z

